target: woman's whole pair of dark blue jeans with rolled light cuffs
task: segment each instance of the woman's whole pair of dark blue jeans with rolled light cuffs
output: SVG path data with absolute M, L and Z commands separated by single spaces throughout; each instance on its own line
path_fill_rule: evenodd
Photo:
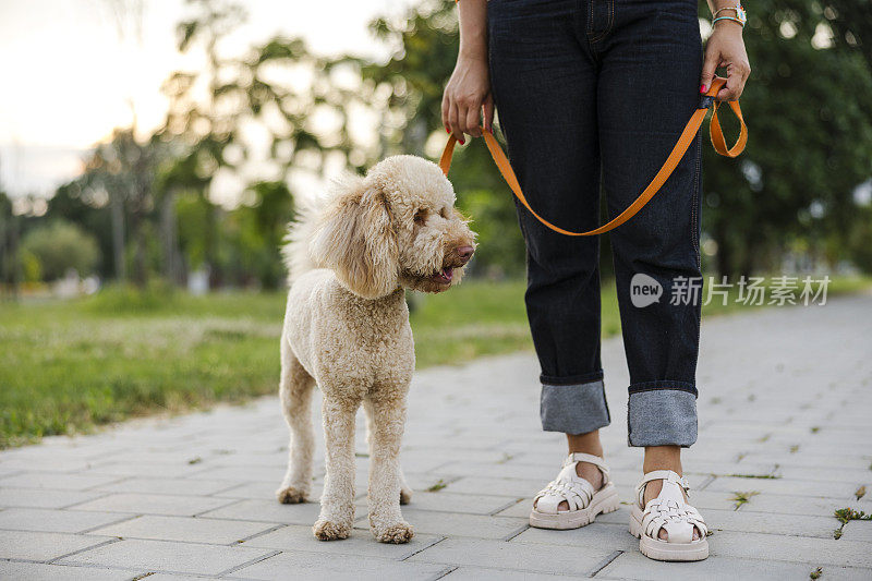
M 564 228 L 589 230 L 600 225 L 602 187 L 609 217 L 622 211 L 697 108 L 697 1 L 491 0 L 487 17 L 499 124 L 531 205 Z M 698 136 L 661 192 L 609 234 L 631 446 L 697 439 L 700 303 L 670 298 L 682 279 L 700 277 L 700 184 Z M 597 429 L 610 420 L 600 361 L 598 238 L 555 233 L 520 206 L 518 215 L 543 428 Z M 663 294 L 634 306 L 631 281 L 645 280 Z

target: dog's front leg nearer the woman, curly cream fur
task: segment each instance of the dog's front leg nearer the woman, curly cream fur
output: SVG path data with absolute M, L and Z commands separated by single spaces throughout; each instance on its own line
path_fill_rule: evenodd
M 374 398 L 370 417 L 370 529 L 383 543 L 407 543 L 414 531 L 400 512 L 400 441 L 405 397 Z

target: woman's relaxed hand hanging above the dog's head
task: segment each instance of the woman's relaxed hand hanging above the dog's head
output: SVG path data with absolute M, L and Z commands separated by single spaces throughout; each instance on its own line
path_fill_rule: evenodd
M 482 110 L 484 128 L 492 131 L 494 98 L 491 96 L 487 58 L 461 53 L 443 94 L 443 124 L 461 144 L 464 143 L 464 133 L 481 137 L 479 119 Z

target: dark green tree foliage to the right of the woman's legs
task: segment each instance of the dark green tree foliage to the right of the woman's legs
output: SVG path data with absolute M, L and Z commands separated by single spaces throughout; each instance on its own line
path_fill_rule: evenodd
M 741 99 L 748 147 L 737 160 L 703 149 L 704 228 L 718 244 L 722 274 L 778 268 L 796 249 L 834 264 L 848 256 L 851 231 L 872 235 L 852 198 L 872 174 L 872 105 L 858 98 L 872 93 L 872 68 L 859 50 L 869 28 L 858 27 L 870 16 L 844 23 L 839 4 L 850 5 L 765 0 L 750 13 L 753 72 Z M 850 29 L 827 40 L 843 24 Z

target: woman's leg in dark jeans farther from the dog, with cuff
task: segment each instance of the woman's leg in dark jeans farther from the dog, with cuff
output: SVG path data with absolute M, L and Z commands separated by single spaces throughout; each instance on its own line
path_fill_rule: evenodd
M 603 1 L 615 3 L 611 25 L 593 50 L 603 185 L 615 216 L 650 183 L 697 109 L 702 45 L 694 1 Z M 683 447 L 697 439 L 701 302 L 678 295 L 702 281 L 700 178 L 697 138 L 654 198 L 610 233 L 631 446 Z M 659 299 L 639 301 L 641 286 L 661 289 Z

